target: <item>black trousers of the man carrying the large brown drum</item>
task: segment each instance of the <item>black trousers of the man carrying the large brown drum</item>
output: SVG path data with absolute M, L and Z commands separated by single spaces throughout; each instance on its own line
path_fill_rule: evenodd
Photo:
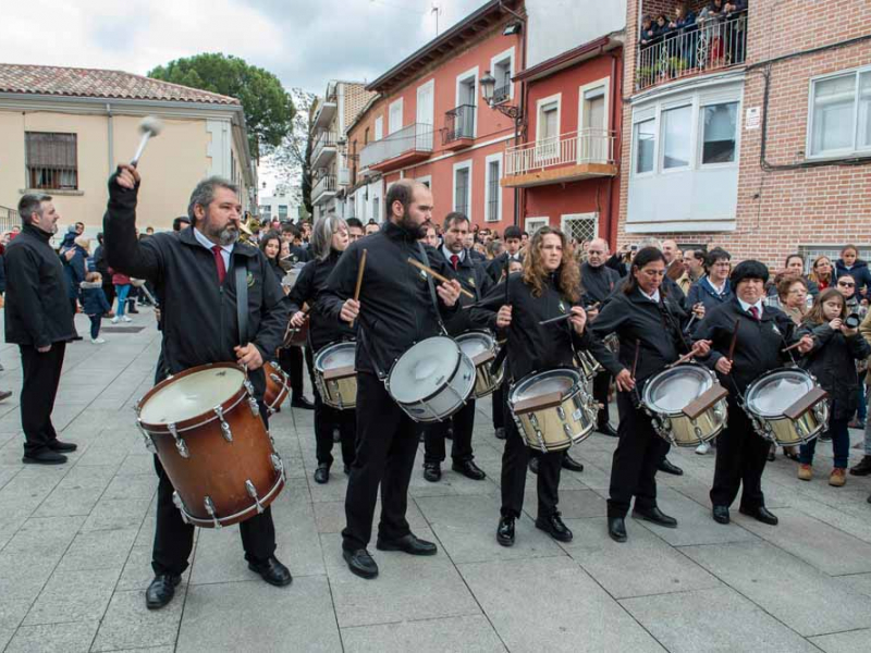
M 260 403 L 260 416 L 269 428 L 262 403 Z M 187 559 L 194 549 L 194 526 L 184 522 L 182 513 L 172 502 L 174 489 L 157 456 L 155 456 L 155 470 L 160 482 L 157 485 L 157 529 L 151 553 L 151 569 L 155 574 L 181 575 L 187 569 Z M 238 532 L 242 535 L 245 559 L 249 563 L 266 560 L 275 553 L 275 525 L 272 522 L 271 507 L 241 522 Z

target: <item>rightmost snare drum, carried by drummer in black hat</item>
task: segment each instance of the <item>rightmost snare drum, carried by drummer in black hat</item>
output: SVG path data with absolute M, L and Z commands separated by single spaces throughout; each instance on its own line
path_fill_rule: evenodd
M 829 395 L 799 368 L 762 374 L 747 387 L 744 409 L 753 429 L 781 446 L 810 442 L 829 422 Z

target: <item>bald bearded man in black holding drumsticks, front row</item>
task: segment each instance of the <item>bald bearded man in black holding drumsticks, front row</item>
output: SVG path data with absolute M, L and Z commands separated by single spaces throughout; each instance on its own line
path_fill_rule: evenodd
M 345 496 L 342 556 L 361 578 L 378 576 L 367 550 L 381 486 L 380 551 L 434 555 L 436 544 L 412 533 L 405 513 L 408 482 L 417 454 L 416 424 L 384 386 L 392 364 L 412 346 L 440 332 L 440 315 L 457 309 L 459 283 L 451 280 L 430 292 L 415 259 L 446 276 L 451 271 L 432 248 L 419 245 L 421 226 L 432 217 L 432 194 L 419 182 L 400 180 L 388 190 L 388 220 L 380 231 L 352 244 L 339 259 L 319 298 L 333 320 L 357 321 L 357 457 Z M 358 299 L 354 298 L 360 258 L 368 250 Z M 421 255 L 422 249 L 422 255 Z M 426 259 L 426 260 L 424 260 Z

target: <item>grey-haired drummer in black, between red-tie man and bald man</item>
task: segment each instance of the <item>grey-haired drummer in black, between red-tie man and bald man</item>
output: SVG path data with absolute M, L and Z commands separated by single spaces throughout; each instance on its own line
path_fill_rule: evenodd
M 328 213 L 315 223 L 309 243 L 309 254 L 315 258 L 306 263 L 290 294 L 291 325 L 302 326 L 306 319 L 303 305 L 311 308 L 309 312 L 308 346 L 317 353 L 327 345 L 353 341 L 356 331 L 345 322 L 332 320 L 315 304 L 318 293 L 327 285 L 327 278 L 335 268 L 342 252 L 347 249 L 348 230 L 344 220 L 335 213 Z M 333 464 L 333 430 L 338 429 L 342 446 L 342 463 L 345 475 L 351 473 L 354 463 L 354 442 L 357 438 L 357 411 L 354 408 L 339 410 L 323 403 L 317 385 L 315 386 L 315 442 L 318 467 L 315 482 L 327 483 Z

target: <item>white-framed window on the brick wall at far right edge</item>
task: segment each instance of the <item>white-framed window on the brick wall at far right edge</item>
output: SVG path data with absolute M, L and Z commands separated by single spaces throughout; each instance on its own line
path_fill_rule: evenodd
M 811 157 L 871 149 L 871 69 L 811 81 Z

